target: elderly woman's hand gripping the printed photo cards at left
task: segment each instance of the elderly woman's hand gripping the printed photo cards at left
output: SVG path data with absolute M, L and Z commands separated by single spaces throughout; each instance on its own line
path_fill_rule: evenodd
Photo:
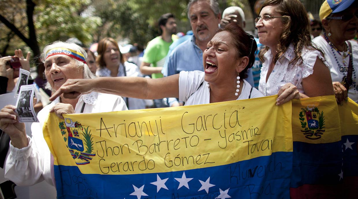
M 7 105 L 0 112 L 0 128 L 12 138 L 26 137 L 25 124 L 18 121 L 18 114 L 15 112 L 16 107 Z

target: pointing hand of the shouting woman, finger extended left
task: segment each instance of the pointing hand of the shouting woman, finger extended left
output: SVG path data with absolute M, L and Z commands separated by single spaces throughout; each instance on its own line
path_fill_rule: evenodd
M 50 101 L 55 100 L 58 96 L 62 95 L 64 98 L 76 99 L 82 93 L 89 93 L 93 91 L 91 82 L 93 79 L 68 79 L 53 95 L 49 98 Z

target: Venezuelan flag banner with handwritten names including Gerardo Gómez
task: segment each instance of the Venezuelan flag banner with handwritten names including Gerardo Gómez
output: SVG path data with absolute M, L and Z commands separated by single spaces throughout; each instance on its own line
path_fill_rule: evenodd
M 294 113 L 276 97 L 50 114 L 44 137 L 57 197 L 289 198 Z

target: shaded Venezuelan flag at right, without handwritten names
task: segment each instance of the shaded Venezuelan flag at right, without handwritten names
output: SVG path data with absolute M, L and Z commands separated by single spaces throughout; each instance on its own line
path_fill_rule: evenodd
M 292 100 L 291 198 L 358 198 L 358 104 Z

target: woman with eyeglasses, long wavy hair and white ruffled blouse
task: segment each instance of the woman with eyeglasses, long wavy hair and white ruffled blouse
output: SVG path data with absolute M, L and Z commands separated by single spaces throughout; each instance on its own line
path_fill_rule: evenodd
M 299 0 L 266 0 L 255 19 L 258 39 L 266 47 L 258 90 L 278 94 L 276 104 L 333 95 L 328 63 L 312 46 L 305 7 Z

